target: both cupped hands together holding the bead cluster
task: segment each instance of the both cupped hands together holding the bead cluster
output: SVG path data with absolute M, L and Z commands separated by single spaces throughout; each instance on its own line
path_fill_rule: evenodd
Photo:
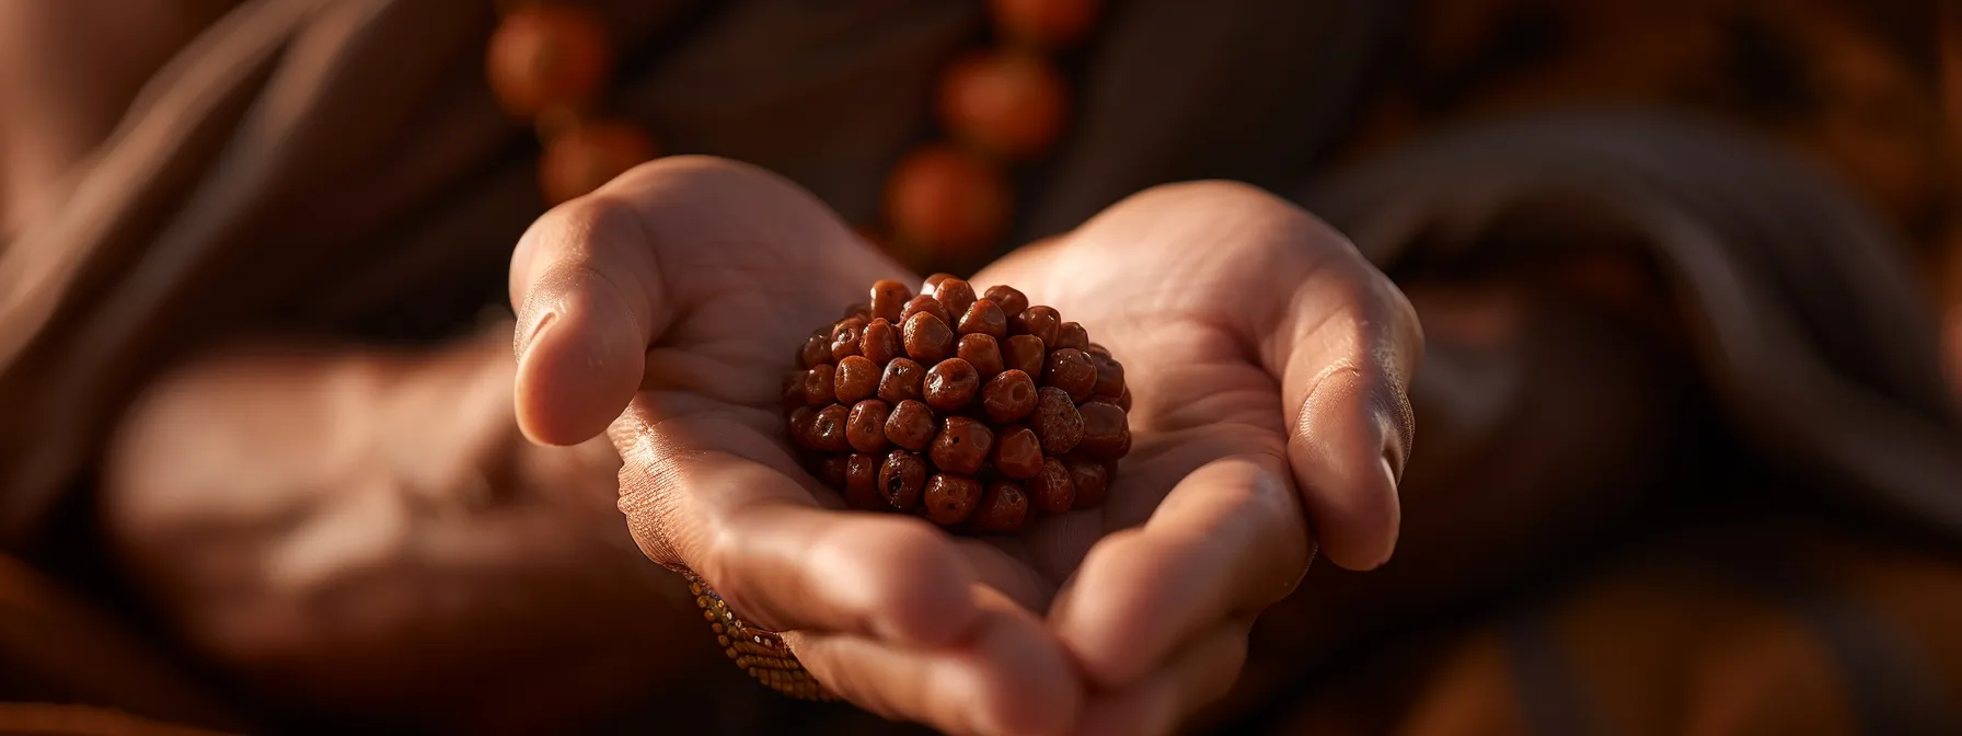
M 1395 548 L 1420 332 L 1299 208 L 1154 188 L 977 275 L 1093 326 L 1138 398 L 1118 500 L 1005 544 L 844 512 L 793 457 L 789 351 L 877 279 L 918 283 L 773 175 L 644 165 L 518 245 L 518 424 L 606 432 L 647 557 L 789 632 L 846 699 L 950 732 L 1169 730 L 1232 683 L 1311 520 L 1344 567 Z

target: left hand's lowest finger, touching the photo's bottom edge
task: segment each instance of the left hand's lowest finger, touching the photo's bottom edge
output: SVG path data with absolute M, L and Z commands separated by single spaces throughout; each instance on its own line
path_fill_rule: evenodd
M 785 636 L 838 697 L 895 720 L 954 734 L 1046 734 L 1075 722 L 1083 689 L 1040 620 L 977 585 L 973 640 L 910 650 L 850 634 Z

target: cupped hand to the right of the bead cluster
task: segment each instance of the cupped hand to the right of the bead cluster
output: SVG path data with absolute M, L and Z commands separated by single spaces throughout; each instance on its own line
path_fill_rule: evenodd
M 1252 186 L 1173 184 L 993 283 L 1081 322 L 1134 396 L 1109 504 L 1010 548 L 1061 583 L 1048 618 L 1097 689 L 1081 730 L 1167 732 L 1224 695 L 1317 540 L 1350 569 L 1391 555 L 1422 334 L 1342 236 Z

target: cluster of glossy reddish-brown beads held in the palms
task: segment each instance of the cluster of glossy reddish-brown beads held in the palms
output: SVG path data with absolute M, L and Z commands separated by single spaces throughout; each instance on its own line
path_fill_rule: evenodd
M 799 345 L 781 393 L 797 455 L 846 506 L 987 534 L 1105 502 L 1130 387 L 1081 324 L 948 275 L 869 294 Z

